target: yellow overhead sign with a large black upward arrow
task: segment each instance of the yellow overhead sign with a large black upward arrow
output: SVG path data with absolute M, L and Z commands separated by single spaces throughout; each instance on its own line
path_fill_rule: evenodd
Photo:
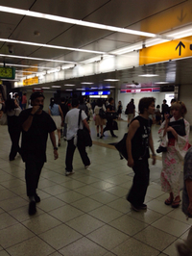
M 180 38 L 147 47 L 139 52 L 139 65 L 192 57 L 192 37 Z

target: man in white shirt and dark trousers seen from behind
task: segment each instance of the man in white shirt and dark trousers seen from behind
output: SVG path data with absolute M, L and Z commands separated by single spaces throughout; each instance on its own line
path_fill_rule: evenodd
M 71 175 L 74 173 L 73 171 L 73 155 L 76 149 L 77 145 L 77 132 L 78 129 L 83 129 L 84 126 L 87 128 L 87 130 L 90 133 L 90 128 L 86 122 L 86 115 L 84 111 L 82 111 L 81 115 L 81 121 L 80 121 L 80 127 L 78 126 L 78 121 L 79 121 L 79 114 L 80 110 L 78 109 L 79 107 L 79 101 L 78 99 L 73 99 L 72 100 L 72 109 L 67 113 L 65 116 L 65 123 L 67 124 L 67 134 L 66 134 L 66 140 L 68 142 L 67 144 L 67 149 L 66 149 L 66 159 L 65 159 L 65 175 Z M 85 146 L 84 144 L 79 144 L 78 143 L 78 150 L 80 152 L 82 161 L 84 163 L 84 167 L 87 168 L 90 166 L 90 160 L 87 156 L 87 153 L 85 151 Z

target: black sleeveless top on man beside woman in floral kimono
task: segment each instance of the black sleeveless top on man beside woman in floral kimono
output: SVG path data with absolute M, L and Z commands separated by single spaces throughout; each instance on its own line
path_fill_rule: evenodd
M 148 159 L 149 153 L 149 137 L 151 134 L 152 120 L 137 115 L 132 121 L 139 121 L 139 128 L 136 130 L 132 138 L 132 158 L 133 160 Z

